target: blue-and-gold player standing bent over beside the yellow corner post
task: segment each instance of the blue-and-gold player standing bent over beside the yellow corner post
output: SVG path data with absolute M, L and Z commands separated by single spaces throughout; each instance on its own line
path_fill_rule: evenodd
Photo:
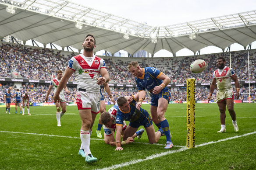
M 147 89 L 152 94 L 150 104 L 152 120 L 158 128 L 162 127 L 164 131 L 167 143 L 164 149 L 171 149 L 173 144 L 171 142 L 169 123 L 164 117 L 171 98 L 171 93 L 166 86 L 171 82 L 171 79 L 154 67 L 141 68 L 137 61 L 130 62 L 128 69 L 135 76 L 139 91 Z M 140 105 L 142 101 L 143 99 L 139 100 Z

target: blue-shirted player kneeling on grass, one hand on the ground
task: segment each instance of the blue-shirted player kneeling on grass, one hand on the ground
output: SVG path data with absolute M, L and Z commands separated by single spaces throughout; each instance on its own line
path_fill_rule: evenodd
M 143 125 L 146 129 L 149 143 L 156 143 L 164 133 L 162 128 L 155 132 L 153 122 L 149 113 L 141 108 L 142 101 L 146 97 L 146 92 L 140 91 L 135 96 L 120 97 L 117 99 L 118 110 L 116 116 L 116 150 L 123 150 L 121 147 L 121 133 L 124 121 L 130 121 L 128 127 L 125 130 L 123 141 L 128 136 L 133 135 L 139 126 Z M 136 104 L 136 101 L 138 103 Z

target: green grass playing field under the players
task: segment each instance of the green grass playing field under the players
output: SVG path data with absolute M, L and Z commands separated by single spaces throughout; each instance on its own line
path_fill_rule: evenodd
M 110 105 L 107 105 L 107 110 Z M 149 111 L 149 104 L 142 108 Z M 226 133 L 220 130 L 220 118 L 217 104 L 196 104 L 196 145 L 210 141 L 218 141 L 237 135 L 256 131 L 256 104 L 235 104 L 239 132 L 234 132 L 231 117 L 227 113 Z M 146 132 L 141 139 L 124 146 L 123 151 L 115 151 L 103 140 L 91 140 L 90 149 L 98 158 L 94 164 L 85 163 L 78 156 L 81 141 L 79 131 L 81 120 L 76 106 L 67 106 L 67 113 L 61 118 L 61 127 L 57 127 L 56 108 L 30 107 L 31 116 L 5 113 L 0 108 L 0 169 L 1 170 L 93 170 L 123 164 L 131 160 L 145 159 L 154 154 L 169 150 L 164 149 L 165 136 L 161 137 L 161 145 L 147 145 Z M 25 108 L 27 114 L 27 109 Z M 96 128 L 100 114 L 96 117 L 92 129 L 92 139 L 97 139 Z M 179 150 L 186 143 L 186 104 L 169 104 L 166 112 L 169 121 L 174 148 Z M 155 127 L 156 129 L 156 127 Z M 103 129 L 101 130 L 103 134 Z M 25 132 L 47 135 L 70 136 L 71 138 L 32 135 Z M 170 169 L 255 169 L 256 167 L 256 134 L 243 136 L 224 142 L 213 143 L 196 149 L 187 149 L 167 154 L 152 160 L 142 161 L 118 170 L 170 170 Z

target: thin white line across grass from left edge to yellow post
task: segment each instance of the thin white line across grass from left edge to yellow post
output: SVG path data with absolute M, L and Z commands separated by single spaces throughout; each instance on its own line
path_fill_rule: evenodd
M 60 136 L 60 135 L 48 135 L 48 134 L 41 134 L 41 133 L 26 133 L 26 132 L 10 132 L 10 131 L 0 131 L 0 132 L 5 132 L 5 133 L 18 133 L 18 134 L 26 134 L 26 135 L 42 135 L 42 136 L 53 136 L 53 137 L 62 137 L 62 138 L 72 138 L 72 139 L 80 139 L 79 137 L 72 137 L 72 136 Z M 101 140 L 103 141 L 104 139 L 95 139 L 91 138 L 91 140 Z M 136 140 L 137 141 L 137 140 Z M 160 143 L 146 143 L 146 142 L 133 142 L 133 143 L 141 143 L 143 145 L 158 145 L 158 146 L 166 146 L 166 144 L 160 144 Z M 178 146 L 174 145 L 175 147 L 185 147 L 185 146 Z

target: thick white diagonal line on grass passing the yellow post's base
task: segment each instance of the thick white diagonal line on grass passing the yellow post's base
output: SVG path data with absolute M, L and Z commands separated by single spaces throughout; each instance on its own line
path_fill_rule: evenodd
M 197 145 L 196 147 L 206 146 L 206 145 L 210 145 L 210 144 L 218 143 L 218 142 L 224 142 L 224 141 L 226 141 L 226 140 L 231 140 L 231 139 L 235 139 L 235 138 L 240 138 L 240 137 L 247 136 L 247 135 L 252 135 L 252 134 L 256 134 L 256 131 L 250 132 L 250 133 L 246 133 L 246 134 L 244 134 L 244 135 L 238 135 L 238 136 L 234 136 L 234 137 L 230 137 L 230 138 L 220 139 L 220 140 L 217 140 L 217 141 L 215 141 L 215 142 L 213 142 L 213 141 L 212 141 L 212 142 L 206 142 L 206 143 Z M 146 161 L 146 160 L 153 160 L 153 159 L 155 159 L 155 158 L 159 158 L 159 157 L 161 157 L 161 156 L 165 156 L 165 155 L 168 155 L 168 154 L 182 152 L 182 151 L 185 151 L 185 150 L 187 150 L 187 149 L 188 149 L 188 148 L 183 147 L 183 148 L 178 149 L 178 150 L 170 150 L 170 151 L 167 151 L 167 152 L 157 153 L 157 154 L 153 154 L 153 155 L 151 155 L 151 156 L 147 156 L 145 159 L 131 160 L 131 161 L 128 161 L 128 162 L 124 162 L 124 163 L 121 163 L 121 164 L 116 164 L 116 165 L 113 165 L 113 166 L 111 166 L 111 167 L 106 167 L 106 168 L 97 169 L 97 170 L 113 170 L 113 169 L 116 169 L 116 168 L 120 168 L 120 167 L 125 167 L 125 166 L 129 166 L 129 165 L 133 165 L 133 164 L 136 164 L 136 163 L 139 163 L 139 162 L 143 162 L 143 161 Z

